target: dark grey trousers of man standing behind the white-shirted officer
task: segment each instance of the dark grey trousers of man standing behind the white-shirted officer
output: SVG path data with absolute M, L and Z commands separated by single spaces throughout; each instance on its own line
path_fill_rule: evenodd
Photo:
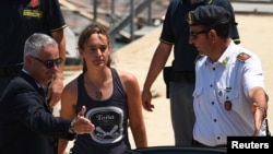
M 192 145 L 192 130 L 195 122 L 193 111 L 194 83 L 169 83 L 170 116 L 176 146 Z

